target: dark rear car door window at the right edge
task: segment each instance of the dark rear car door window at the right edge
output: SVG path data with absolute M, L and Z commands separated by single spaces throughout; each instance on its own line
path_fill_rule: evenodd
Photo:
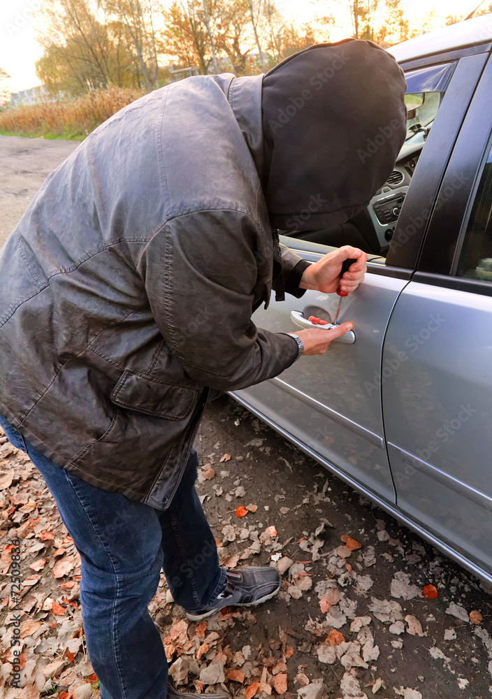
M 456 274 L 492 282 L 492 147 L 484 159 Z

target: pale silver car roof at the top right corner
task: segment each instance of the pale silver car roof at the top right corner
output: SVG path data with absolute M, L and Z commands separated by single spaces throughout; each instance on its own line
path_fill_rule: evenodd
M 434 53 L 452 51 L 492 40 L 492 14 L 472 17 L 449 27 L 429 31 L 388 49 L 398 63 L 412 61 Z

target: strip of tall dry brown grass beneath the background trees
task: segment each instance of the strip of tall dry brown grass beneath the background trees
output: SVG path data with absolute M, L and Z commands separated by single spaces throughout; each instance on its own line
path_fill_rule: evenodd
M 78 99 L 45 102 L 8 109 L 0 113 L 0 132 L 51 138 L 84 138 L 143 91 L 133 87 L 110 87 L 89 92 Z

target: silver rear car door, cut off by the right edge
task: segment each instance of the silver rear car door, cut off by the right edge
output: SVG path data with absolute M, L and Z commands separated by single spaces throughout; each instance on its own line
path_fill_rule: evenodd
M 492 62 L 454 147 L 418 271 L 391 315 L 384 429 L 398 509 L 492 579 Z M 443 547 L 443 546 L 441 546 Z

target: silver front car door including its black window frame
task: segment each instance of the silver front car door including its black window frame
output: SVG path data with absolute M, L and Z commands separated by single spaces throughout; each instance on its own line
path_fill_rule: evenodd
M 433 127 L 426 134 L 414 181 L 405 188 L 402 215 L 406 210 L 407 218 L 418 216 L 426 222 L 428 212 L 422 212 L 421 190 L 415 185 L 419 178 L 427 182 L 426 201 L 437 191 L 483 62 L 484 58 L 477 56 L 454 58 L 452 71 L 444 71 L 447 72 L 445 96 Z M 410 66 L 407 77 L 411 78 L 413 92 L 419 86 L 414 78 L 419 72 L 421 92 L 429 92 L 431 73 L 437 74 L 439 89 L 444 91 L 443 71 L 433 70 L 440 64 L 439 57 L 433 57 L 428 63 L 431 65 L 420 62 Z M 384 196 L 385 192 L 379 194 Z M 393 226 L 395 223 L 393 220 Z M 400 245 L 398 226 L 395 231 L 397 247 Z M 424 224 L 415 230 L 412 242 L 423 233 Z M 328 252 L 323 245 L 290 238 L 282 239 L 282 243 L 291 245 L 310 261 Z M 395 257 L 398 259 L 398 254 Z M 279 377 L 234 394 L 241 403 L 321 463 L 343 475 L 345 480 L 370 491 L 381 503 L 391 504 L 395 502 L 395 491 L 386 454 L 381 402 L 381 383 L 391 365 L 388 368 L 382 363 L 382 346 L 389 317 L 398 296 L 409 283 L 417 257 L 413 261 L 410 257 L 403 259 L 403 264 L 400 261 L 398 266 L 386 264 L 384 258 L 373 259 L 368 264 L 363 284 L 342 300 L 339 319 L 354 323 L 354 344 L 333 343 L 326 355 L 303 357 Z M 282 303 L 271 303 L 268 310 L 258 310 L 254 320 L 271 331 L 295 331 L 297 326 L 291 319 L 291 312 L 303 312 L 306 318 L 319 315 L 333 319 L 337 303 L 335 294 L 307 291 L 301 299 L 289 296 Z M 399 361 L 398 355 L 391 361 Z

